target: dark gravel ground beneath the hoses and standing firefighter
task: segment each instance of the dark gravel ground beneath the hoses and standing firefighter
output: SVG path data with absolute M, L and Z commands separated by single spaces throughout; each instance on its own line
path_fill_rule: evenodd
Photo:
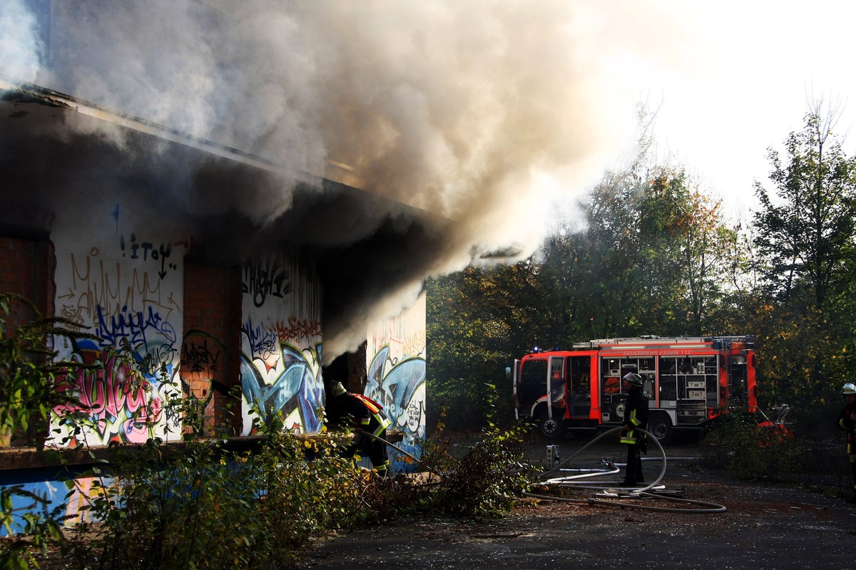
M 565 442 L 559 455 L 569 457 L 580 446 Z M 618 444 L 596 444 L 567 467 L 600 467 L 604 459 L 621 461 L 622 452 Z M 849 551 L 856 544 L 856 505 L 797 486 L 736 481 L 728 473 L 705 470 L 698 461 L 676 459 L 698 457 L 697 446 L 666 452 L 673 458 L 667 460 L 663 478 L 667 497 L 609 498 L 598 496 L 603 491 L 574 490 L 565 495 L 578 502 L 528 499 L 496 520 L 402 516 L 319 541 L 297 566 L 856 568 L 856 556 Z M 532 445 L 527 455 L 530 461 L 545 461 L 546 446 Z M 646 461 L 646 477 L 656 476 L 660 467 L 662 460 Z M 675 497 L 720 505 L 724 512 L 674 512 L 713 510 L 675 502 Z M 588 504 L 591 499 L 598 502 Z M 640 509 L 649 507 L 669 511 Z

